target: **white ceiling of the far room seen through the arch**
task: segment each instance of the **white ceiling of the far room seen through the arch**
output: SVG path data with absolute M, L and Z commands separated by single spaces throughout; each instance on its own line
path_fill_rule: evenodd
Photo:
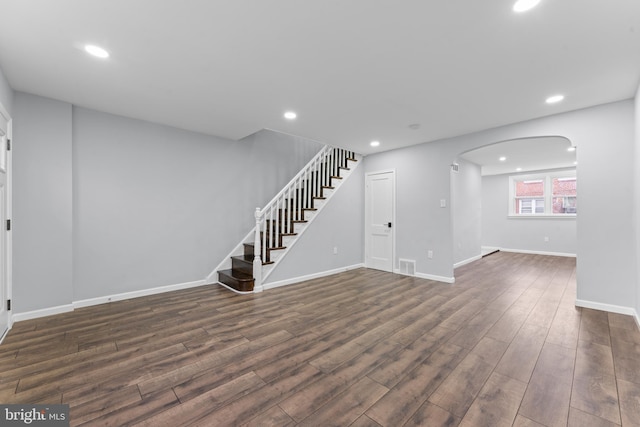
M 482 166 L 482 175 L 524 173 L 576 167 L 577 150 L 557 136 L 498 142 L 463 153 L 460 157 Z M 505 160 L 500 160 L 504 157 Z

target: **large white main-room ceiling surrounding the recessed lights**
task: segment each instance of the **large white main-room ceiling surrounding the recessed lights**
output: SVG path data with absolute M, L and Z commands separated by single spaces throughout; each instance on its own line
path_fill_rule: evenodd
M 513 2 L 0 0 L 0 67 L 78 106 L 363 154 L 634 96 L 640 1 Z

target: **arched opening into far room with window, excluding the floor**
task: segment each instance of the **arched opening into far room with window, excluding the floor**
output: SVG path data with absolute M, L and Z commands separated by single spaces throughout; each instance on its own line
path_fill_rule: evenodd
M 577 150 L 565 137 L 510 139 L 458 155 L 454 267 L 496 250 L 576 256 Z

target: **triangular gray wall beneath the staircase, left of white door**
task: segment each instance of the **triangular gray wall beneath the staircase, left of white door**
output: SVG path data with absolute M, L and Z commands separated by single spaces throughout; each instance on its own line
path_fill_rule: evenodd
M 364 175 L 357 167 L 266 284 L 364 262 Z M 338 253 L 333 253 L 333 248 Z

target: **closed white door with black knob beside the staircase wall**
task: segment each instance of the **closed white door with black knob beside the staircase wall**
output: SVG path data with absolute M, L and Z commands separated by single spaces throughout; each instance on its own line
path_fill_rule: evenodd
M 365 265 L 393 272 L 395 171 L 370 173 L 365 189 Z

